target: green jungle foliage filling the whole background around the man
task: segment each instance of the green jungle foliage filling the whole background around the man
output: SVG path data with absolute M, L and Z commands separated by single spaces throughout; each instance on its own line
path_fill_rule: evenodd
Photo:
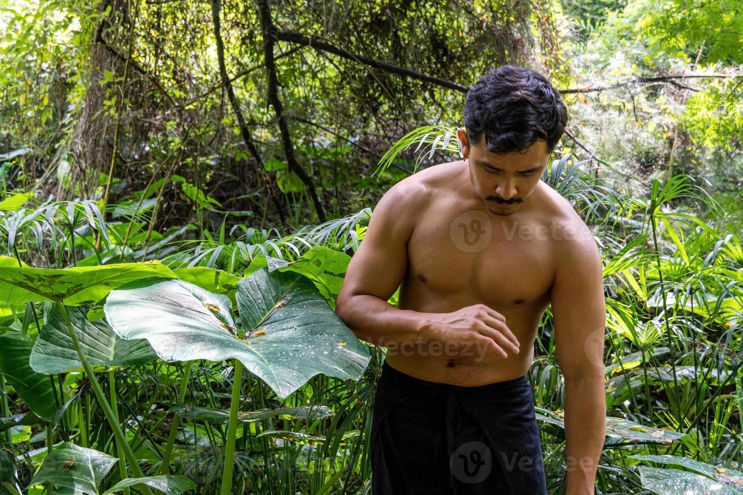
M 278 42 L 274 53 L 281 118 L 312 187 L 289 170 L 267 102 L 254 4 L 221 2 L 236 107 L 218 79 L 208 2 L 0 7 L 0 249 L 8 255 L 0 258 L 0 491 L 21 493 L 45 456 L 39 473 L 63 479 L 36 481 L 68 483 L 77 471 L 55 454 L 70 440 L 122 459 L 105 479 L 88 476 L 92 493 L 192 487 L 178 475 L 202 495 L 233 478 L 234 493 L 363 493 L 383 350 L 359 344 L 332 309 L 375 200 L 420 168 L 461 157 L 454 132 L 464 101 L 459 89 L 360 63 L 364 56 L 461 87 L 513 62 L 574 90 L 562 94 L 567 133 L 542 180 L 582 215 L 603 252 L 610 417 L 597 489 L 738 490 L 736 1 L 271 6 L 279 32 L 313 36 L 311 46 Z M 331 220 L 317 220 L 312 193 Z M 178 289 L 157 292 L 150 275 Z M 125 288 L 132 282 L 139 287 Z M 151 292 L 122 297 L 137 290 Z M 67 306 L 53 302 L 62 299 Z M 109 312 L 142 340 L 108 327 Z M 319 335 L 315 320 L 329 333 Z M 126 346 L 143 342 L 132 361 Z M 241 361 L 221 364 L 237 355 L 236 342 L 253 372 L 245 379 Z M 246 356 L 247 346 L 259 352 Z M 345 355 L 348 369 L 333 376 L 340 365 L 324 351 Z M 547 312 L 529 377 L 548 491 L 561 495 L 565 388 L 555 353 Z M 258 363 L 265 355 L 269 363 Z M 99 383 L 91 365 L 108 380 Z M 303 417 L 310 409 L 322 417 Z M 234 471 L 223 471 L 233 466 L 225 459 Z

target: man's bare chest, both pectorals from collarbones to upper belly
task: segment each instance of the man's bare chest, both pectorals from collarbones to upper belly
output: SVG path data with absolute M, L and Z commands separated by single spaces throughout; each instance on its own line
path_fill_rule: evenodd
M 551 240 L 543 234 L 534 223 L 485 212 L 426 214 L 408 242 L 408 289 L 455 306 L 543 306 L 554 280 Z

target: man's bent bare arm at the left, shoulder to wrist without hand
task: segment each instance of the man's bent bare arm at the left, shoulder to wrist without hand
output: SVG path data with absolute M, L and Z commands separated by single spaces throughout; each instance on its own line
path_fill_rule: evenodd
M 358 338 L 377 346 L 426 340 L 432 313 L 387 301 L 408 268 L 408 240 L 421 209 L 422 186 L 402 180 L 379 200 L 345 272 L 335 312 Z

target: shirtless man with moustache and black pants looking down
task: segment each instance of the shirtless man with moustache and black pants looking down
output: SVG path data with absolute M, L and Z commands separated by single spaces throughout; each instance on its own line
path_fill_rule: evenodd
M 566 122 L 539 73 L 490 71 L 467 93 L 464 160 L 406 177 L 374 208 L 336 309 L 360 339 L 388 348 L 374 495 L 546 493 L 525 374 L 550 304 L 567 493 L 594 493 L 606 424 L 602 263 L 583 220 L 540 180 Z

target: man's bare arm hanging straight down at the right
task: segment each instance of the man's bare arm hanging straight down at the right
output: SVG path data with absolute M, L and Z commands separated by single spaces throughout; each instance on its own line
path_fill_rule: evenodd
M 551 292 L 557 362 L 565 378 L 568 495 L 594 494 L 606 434 L 603 264 L 590 230 L 562 240 Z M 575 232 L 575 231 L 573 231 Z

